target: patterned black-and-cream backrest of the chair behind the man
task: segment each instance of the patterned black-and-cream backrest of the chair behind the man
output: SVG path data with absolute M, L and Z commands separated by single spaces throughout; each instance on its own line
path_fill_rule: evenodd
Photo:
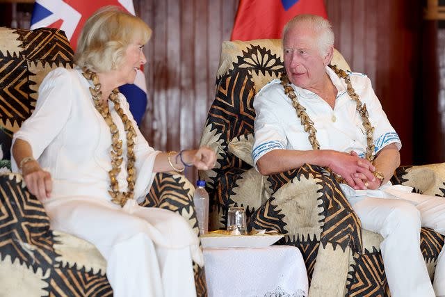
M 350 70 L 335 50 L 332 64 Z M 252 144 L 257 92 L 284 72 L 281 40 L 223 42 L 216 79 L 216 98 L 211 105 L 200 145 L 209 145 L 218 156 L 213 170 L 200 172 L 206 179 L 211 201 L 211 228 L 224 227 L 227 207 L 248 207 L 248 215 L 267 198 L 270 188 L 252 169 Z M 250 180 L 250 186 L 241 183 Z M 261 182 L 263 180 L 263 182 Z M 239 195 L 252 195 L 243 200 Z M 253 201 L 256 199 L 257 201 Z

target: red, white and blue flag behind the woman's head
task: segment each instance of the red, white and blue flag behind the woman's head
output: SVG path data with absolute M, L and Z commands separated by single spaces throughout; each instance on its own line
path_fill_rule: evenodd
M 133 0 L 35 0 L 31 29 L 50 27 L 65 31 L 74 51 L 76 51 L 77 38 L 86 19 L 103 6 L 114 5 L 134 13 Z M 140 124 L 147 108 L 147 84 L 142 71 L 136 74 L 133 84 L 119 88 L 127 97 L 133 118 Z

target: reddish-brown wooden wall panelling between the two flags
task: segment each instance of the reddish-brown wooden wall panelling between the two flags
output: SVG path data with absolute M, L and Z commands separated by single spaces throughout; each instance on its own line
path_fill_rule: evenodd
M 237 0 L 134 0 L 153 29 L 144 52 L 149 102 L 141 125 L 157 150 L 197 147 L 215 96 L 223 40 L 232 32 Z M 195 179 L 196 172 L 188 172 Z

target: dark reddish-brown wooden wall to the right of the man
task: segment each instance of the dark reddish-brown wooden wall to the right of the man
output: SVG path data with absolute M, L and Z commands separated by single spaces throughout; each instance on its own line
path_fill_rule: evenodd
M 355 72 L 368 75 L 403 148 L 413 159 L 413 102 L 418 63 L 419 1 L 325 0 L 335 47 Z

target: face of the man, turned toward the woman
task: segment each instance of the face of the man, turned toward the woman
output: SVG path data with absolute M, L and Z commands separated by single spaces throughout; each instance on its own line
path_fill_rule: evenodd
M 300 88 L 316 89 L 325 75 L 327 58 L 318 49 L 316 33 L 310 26 L 298 24 L 284 36 L 284 67 L 289 80 Z

